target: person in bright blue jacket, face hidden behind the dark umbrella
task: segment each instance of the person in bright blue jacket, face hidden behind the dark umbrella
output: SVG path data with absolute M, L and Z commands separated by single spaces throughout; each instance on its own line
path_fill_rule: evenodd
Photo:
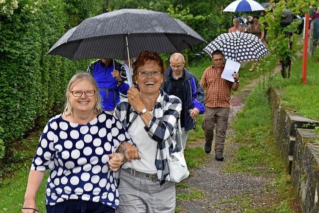
M 99 87 L 102 109 L 113 113 L 120 102 L 120 92 L 126 95 L 130 88 L 124 66 L 114 59 L 101 58 L 92 62 L 86 71 L 92 74 Z

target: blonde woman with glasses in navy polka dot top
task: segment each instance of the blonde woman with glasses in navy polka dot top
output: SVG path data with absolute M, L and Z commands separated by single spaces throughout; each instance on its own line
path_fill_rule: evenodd
M 114 151 L 130 137 L 112 114 L 102 111 L 97 91 L 89 73 L 71 78 L 63 113 L 51 118 L 41 134 L 22 213 L 38 212 L 35 197 L 45 170 L 50 171 L 48 213 L 115 213 L 119 192 L 114 172 L 124 158 Z

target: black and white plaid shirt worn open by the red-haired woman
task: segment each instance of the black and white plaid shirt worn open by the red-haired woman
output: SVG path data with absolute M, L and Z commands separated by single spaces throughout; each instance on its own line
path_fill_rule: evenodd
M 125 99 L 120 102 L 114 111 L 114 117 L 119 119 L 124 128 L 128 130 L 128 127 L 134 122 L 138 113 L 133 107 L 130 107 L 130 119 L 129 123 L 126 121 L 126 114 L 128 109 L 128 100 Z M 174 95 L 167 95 L 164 91 L 160 90 L 158 99 L 154 107 L 153 117 L 149 126 L 145 126 L 144 129 L 149 134 L 150 138 L 158 142 L 158 148 L 156 152 L 155 166 L 158 170 L 158 178 L 160 183 L 163 184 L 169 181 L 169 170 L 167 163 L 167 157 L 165 152 L 165 141 L 167 140 L 169 146 L 169 154 L 177 152 L 175 134 L 177 130 L 177 121 L 181 111 L 181 101 Z M 134 143 L 134 141 L 133 141 Z

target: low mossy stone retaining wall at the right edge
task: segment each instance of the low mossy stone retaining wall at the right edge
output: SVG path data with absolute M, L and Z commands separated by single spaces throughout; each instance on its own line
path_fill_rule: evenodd
M 279 92 L 269 89 L 273 132 L 277 148 L 292 175 L 293 192 L 302 205 L 303 213 L 319 213 L 319 144 L 313 126 L 304 124 L 319 121 L 296 115 L 283 107 Z M 307 129 L 309 128 L 309 129 Z

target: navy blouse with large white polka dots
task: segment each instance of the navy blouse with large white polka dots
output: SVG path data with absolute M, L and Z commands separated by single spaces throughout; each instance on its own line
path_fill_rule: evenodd
M 50 169 L 46 204 L 68 199 L 119 205 L 109 154 L 129 135 L 112 115 L 102 112 L 87 125 L 65 121 L 61 115 L 49 120 L 41 134 L 31 169 Z

